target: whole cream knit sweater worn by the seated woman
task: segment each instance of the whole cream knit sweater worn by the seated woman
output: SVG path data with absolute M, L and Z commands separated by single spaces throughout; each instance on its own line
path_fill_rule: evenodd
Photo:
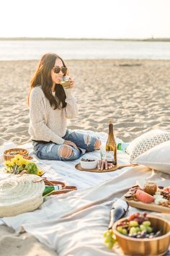
M 63 144 L 62 137 L 66 134 L 66 118 L 75 118 L 78 114 L 76 98 L 72 89 L 66 89 L 66 108 L 53 109 L 45 97 L 41 86 L 35 87 L 30 93 L 30 126 L 32 140 L 43 140 Z

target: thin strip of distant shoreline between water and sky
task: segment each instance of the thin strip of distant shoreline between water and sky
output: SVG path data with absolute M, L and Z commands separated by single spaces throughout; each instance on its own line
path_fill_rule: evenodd
M 0 38 L 0 40 L 112 40 L 112 41 L 141 41 L 141 42 L 169 42 L 170 38 Z

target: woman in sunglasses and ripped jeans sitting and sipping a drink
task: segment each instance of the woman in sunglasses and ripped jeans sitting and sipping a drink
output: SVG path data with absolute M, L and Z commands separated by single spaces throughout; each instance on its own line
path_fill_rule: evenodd
M 74 132 L 66 127 L 66 119 L 77 116 L 74 82 L 68 88 L 61 85 L 61 77 L 68 75 L 63 59 L 56 54 L 45 54 L 30 82 L 29 133 L 38 158 L 71 161 L 85 152 L 100 148 L 99 138 Z

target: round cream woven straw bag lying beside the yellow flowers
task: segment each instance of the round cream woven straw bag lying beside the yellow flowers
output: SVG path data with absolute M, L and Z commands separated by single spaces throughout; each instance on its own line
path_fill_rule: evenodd
M 16 216 L 38 208 L 42 202 L 44 182 L 34 174 L 12 175 L 0 180 L 0 217 Z

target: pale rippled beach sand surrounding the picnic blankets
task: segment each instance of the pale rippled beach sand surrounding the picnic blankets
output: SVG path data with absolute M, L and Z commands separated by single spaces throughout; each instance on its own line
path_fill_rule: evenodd
M 0 145 L 29 142 L 26 104 L 30 77 L 37 61 L 0 61 Z M 75 80 L 79 117 L 68 127 L 107 132 L 114 119 L 115 135 L 125 142 L 151 129 L 170 131 L 170 61 L 66 61 Z M 29 234 L 0 226 L 0 256 L 56 255 Z M 32 248 L 32 249 L 30 249 Z

